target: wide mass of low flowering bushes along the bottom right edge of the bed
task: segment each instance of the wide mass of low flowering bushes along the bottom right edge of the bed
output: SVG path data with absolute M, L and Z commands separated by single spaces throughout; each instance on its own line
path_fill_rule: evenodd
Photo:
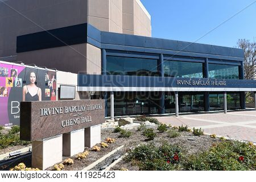
M 255 149 L 249 143 L 231 140 L 218 142 L 205 152 L 184 155 L 177 146 L 148 144 L 134 148 L 125 160 L 147 171 L 255 171 Z

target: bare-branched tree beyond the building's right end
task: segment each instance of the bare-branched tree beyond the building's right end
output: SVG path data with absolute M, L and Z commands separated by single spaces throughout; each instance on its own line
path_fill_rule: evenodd
M 245 79 L 256 80 L 256 42 L 250 40 L 239 39 L 237 42 L 238 48 L 245 52 Z

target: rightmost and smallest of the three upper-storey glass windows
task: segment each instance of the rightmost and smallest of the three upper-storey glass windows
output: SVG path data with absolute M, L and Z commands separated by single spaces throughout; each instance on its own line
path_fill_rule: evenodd
M 209 64 L 209 77 L 239 79 L 239 69 L 237 65 Z

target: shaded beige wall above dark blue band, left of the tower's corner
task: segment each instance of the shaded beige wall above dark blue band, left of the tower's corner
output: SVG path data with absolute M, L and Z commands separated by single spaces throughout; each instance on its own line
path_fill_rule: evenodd
M 87 0 L 0 2 L 0 57 L 16 55 L 16 36 L 86 22 Z

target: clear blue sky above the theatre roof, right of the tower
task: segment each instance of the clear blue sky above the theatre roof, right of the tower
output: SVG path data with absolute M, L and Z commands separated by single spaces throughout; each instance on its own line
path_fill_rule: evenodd
M 141 0 L 151 15 L 152 37 L 234 47 L 238 39 L 256 41 L 256 1 Z

